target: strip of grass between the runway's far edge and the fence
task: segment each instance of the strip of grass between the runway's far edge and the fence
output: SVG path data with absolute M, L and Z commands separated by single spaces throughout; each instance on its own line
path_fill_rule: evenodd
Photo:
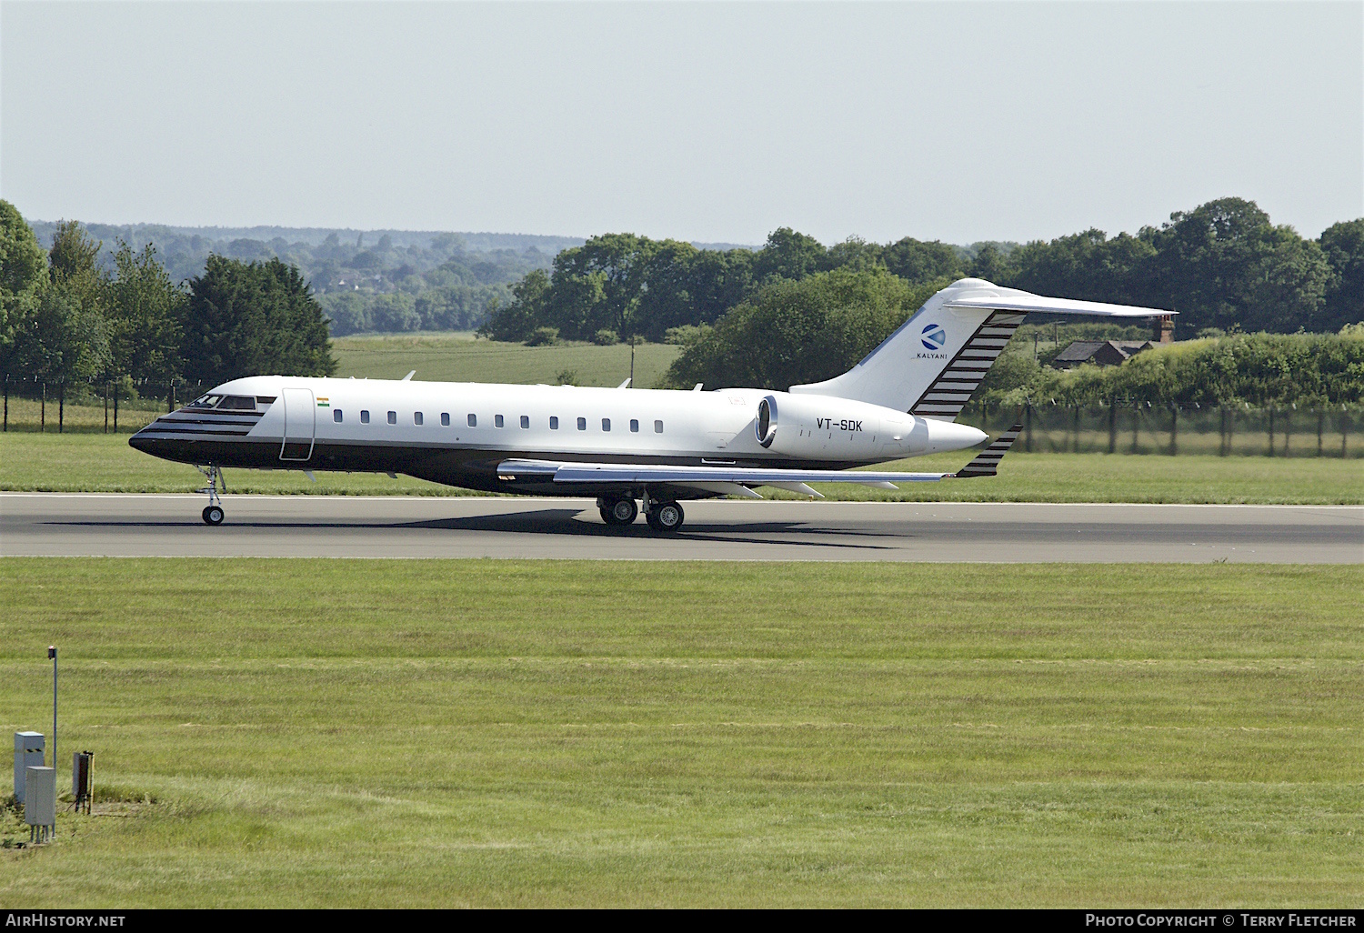
M 918 457 L 893 469 L 955 471 L 973 451 Z M 383 475 L 224 471 L 231 492 L 469 495 Z M 203 486 L 192 466 L 128 446 L 125 435 L 0 434 L 0 490 L 53 492 L 188 492 Z M 1364 462 L 1334 457 L 1207 457 L 1009 453 L 992 479 L 907 484 L 898 492 L 821 484 L 837 499 L 948 502 L 1364 502 Z M 769 498 L 798 498 L 765 488 Z

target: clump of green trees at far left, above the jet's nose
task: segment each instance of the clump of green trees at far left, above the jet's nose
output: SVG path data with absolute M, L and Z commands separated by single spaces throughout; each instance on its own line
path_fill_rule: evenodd
M 170 387 L 241 375 L 336 371 L 327 322 L 296 266 L 209 256 L 172 281 L 157 251 L 104 244 L 64 221 L 48 250 L 0 201 L 0 374 L 72 385 L 131 379 Z

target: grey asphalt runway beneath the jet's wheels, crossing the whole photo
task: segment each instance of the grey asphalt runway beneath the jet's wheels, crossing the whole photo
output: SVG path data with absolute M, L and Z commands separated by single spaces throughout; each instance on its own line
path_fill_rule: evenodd
M 584 499 L 0 494 L 0 555 L 657 561 L 1364 562 L 1364 507 L 926 502 L 686 505 L 682 533 Z

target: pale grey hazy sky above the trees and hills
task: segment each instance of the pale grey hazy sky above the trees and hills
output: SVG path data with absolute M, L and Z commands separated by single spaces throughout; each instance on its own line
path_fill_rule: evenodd
M 31 218 L 968 243 L 1364 216 L 1364 4 L 0 4 Z

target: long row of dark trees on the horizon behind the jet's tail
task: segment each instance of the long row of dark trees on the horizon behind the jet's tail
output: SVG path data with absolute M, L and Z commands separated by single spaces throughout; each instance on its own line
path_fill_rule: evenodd
M 629 233 L 592 237 L 535 270 L 492 310 L 494 340 L 644 337 L 686 340 L 783 281 L 832 270 L 877 270 L 908 285 L 966 276 L 1041 295 L 1117 301 L 1180 312 L 1183 333 L 1334 333 L 1364 321 L 1364 218 L 1316 240 L 1275 225 L 1255 202 L 1224 198 L 1176 211 L 1169 222 L 1109 237 L 1090 229 L 1050 241 L 955 247 L 904 237 L 850 239 L 824 247 L 790 228 L 761 250 L 698 250 Z

